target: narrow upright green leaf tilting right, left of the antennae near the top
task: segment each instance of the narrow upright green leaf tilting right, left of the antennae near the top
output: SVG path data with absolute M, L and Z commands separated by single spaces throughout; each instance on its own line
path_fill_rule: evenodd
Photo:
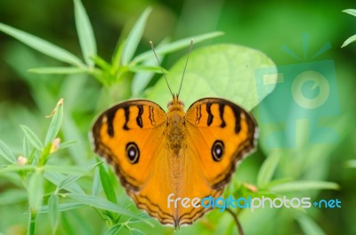
M 140 16 L 139 20 L 134 25 L 134 28 L 131 30 L 130 34 L 127 36 L 127 39 L 125 41 L 125 47 L 123 49 L 123 53 L 121 55 L 122 59 L 122 64 L 128 64 L 131 59 L 133 59 L 134 52 L 137 49 L 137 46 L 139 45 L 142 35 L 143 35 L 143 30 L 146 27 L 146 21 L 147 18 L 150 15 L 150 12 L 152 9 L 148 7 Z

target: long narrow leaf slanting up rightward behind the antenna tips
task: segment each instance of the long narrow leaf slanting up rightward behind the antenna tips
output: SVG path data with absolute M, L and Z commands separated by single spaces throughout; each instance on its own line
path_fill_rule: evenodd
M 157 48 L 156 53 L 158 55 L 162 54 L 167 54 L 167 53 L 173 53 L 175 51 L 178 51 L 182 48 L 189 47 L 190 45 L 190 40 L 193 38 L 194 39 L 194 44 L 198 44 L 200 42 L 206 41 L 207 39 L 214 38 L 216 36 L 222 36 L 223 32 L 212 32 L 212 33 L 207 33 L 203 35 L 198 35 L 198 36 L 190 36 L 190 37 L 185 37 L 183 39 L 174 41 L 173 43 L 162 45 L 161 47 Z M 145 53 L 137 55 L 134 60 L 133 64 L 141 62 L 141 61 L 147 61 L 150 60 L 151 58 L 154 58 L 154 54 L 152 51 L 147 51 Z

